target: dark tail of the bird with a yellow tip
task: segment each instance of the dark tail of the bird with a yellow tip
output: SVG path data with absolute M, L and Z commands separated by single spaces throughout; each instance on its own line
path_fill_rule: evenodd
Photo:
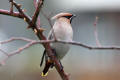
M 49 68 L 53 68 L 54 64 L 51 60 L 46 60 L 45 67 L 41 76 L 47 76 Z

